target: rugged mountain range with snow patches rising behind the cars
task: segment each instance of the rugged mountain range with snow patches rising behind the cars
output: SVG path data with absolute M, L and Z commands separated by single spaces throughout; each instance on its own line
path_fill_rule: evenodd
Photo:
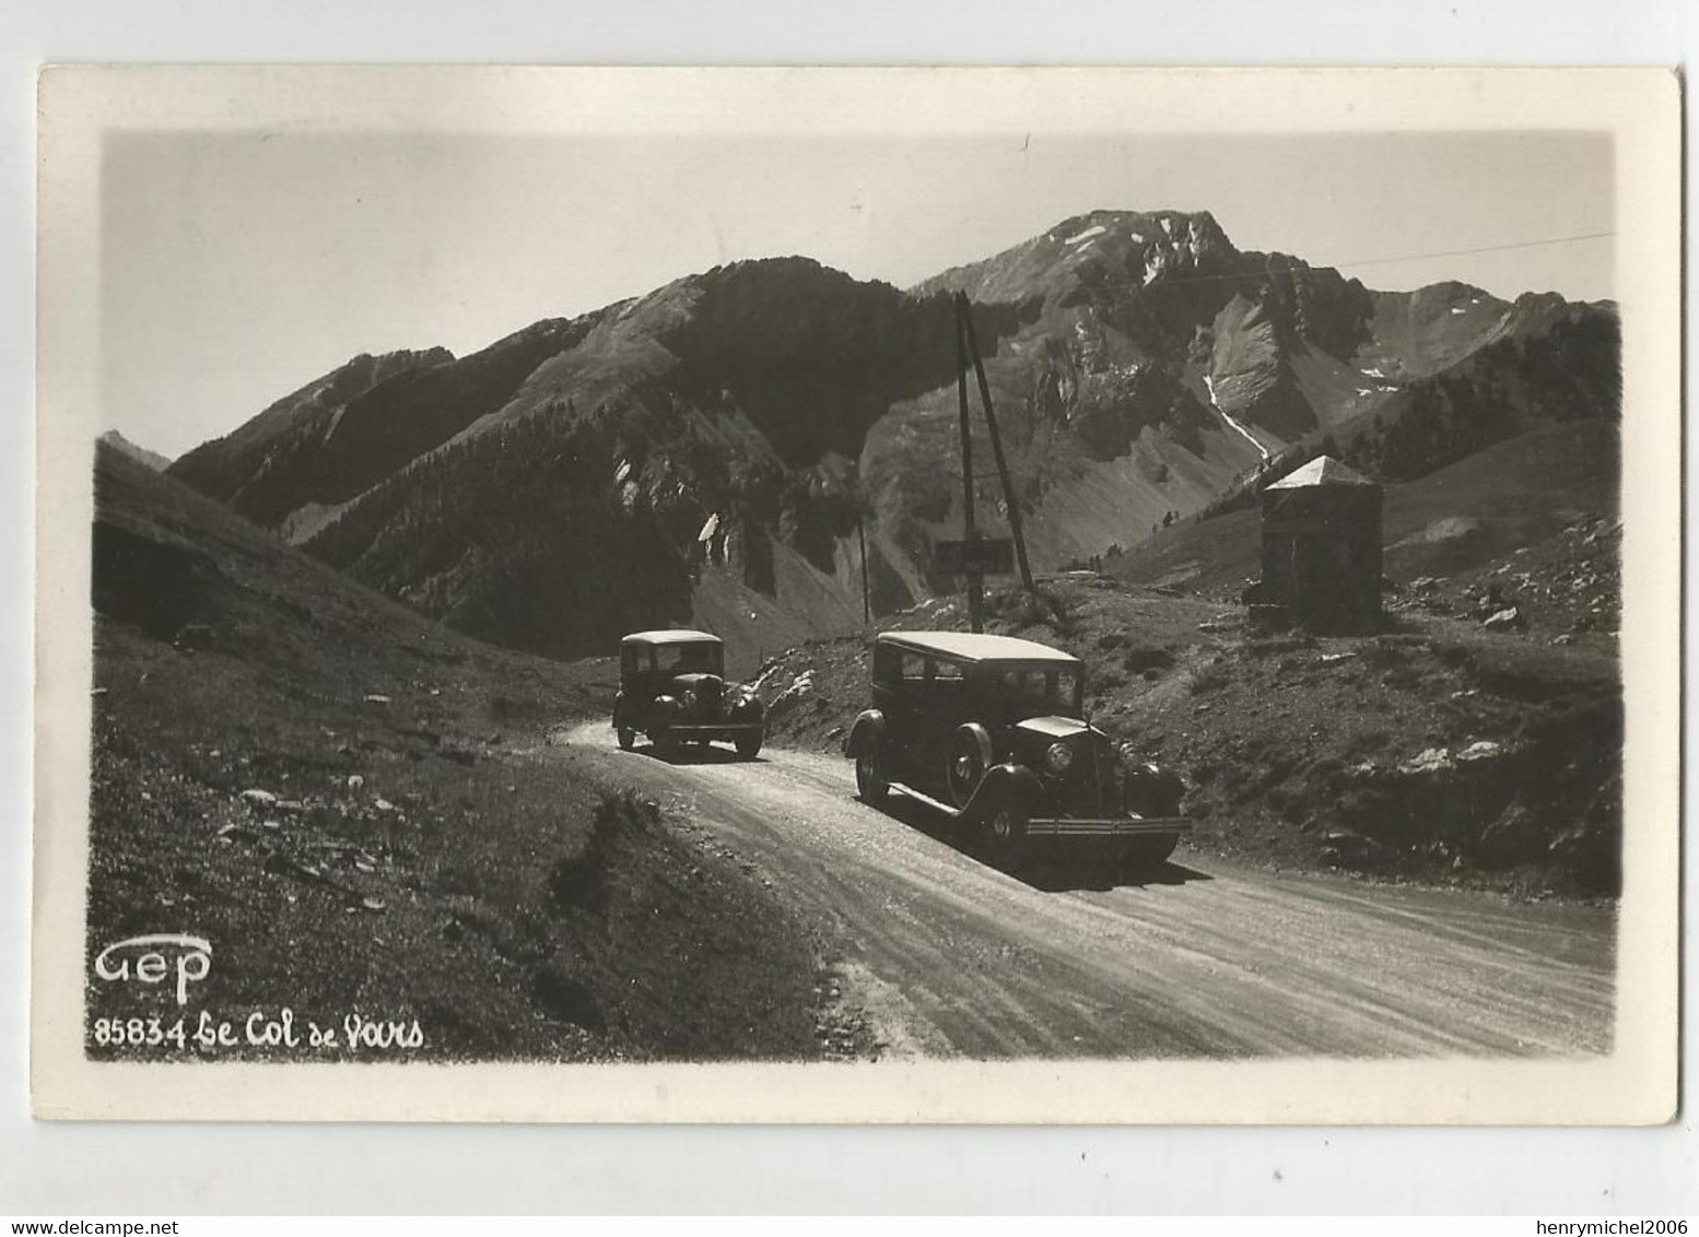
M 355 357 L 172 471 L 450 625 L 556 656 L 615 632 L 557 639 L 527 596 L 559 607 L 629 579 L 610 547 L 647 545 L 647 622 L 708 610 L 758 656 L 853 624 L 863 569 L 873 613 L 948 586 L 931 547 L 962 520 L 955 289 L 1041 568 L 1130 545 L 1324 443 L 1408 472 L 1619 415 L 1614 306 L 1373 291 L 1237 250 L 1208 212 L 1089 211 L 907 291 L 758 258 L 464 359 Z M 567 476 L 579 493 L 561 500 Z M 527 518 L 498 486 L 554 515 Z M 980 493 L 996 535 L 1008 496 Z

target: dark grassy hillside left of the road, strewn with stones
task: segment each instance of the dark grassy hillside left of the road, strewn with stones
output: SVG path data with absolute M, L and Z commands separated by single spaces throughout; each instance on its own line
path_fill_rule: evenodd
M 608 663 L 428 624 L 109 449 L 93 544 L 92 950 L 195 933 L 214 1018 L 418 1020 L 428 1059 L 817 1053 L 804 929 L 542 760 Z

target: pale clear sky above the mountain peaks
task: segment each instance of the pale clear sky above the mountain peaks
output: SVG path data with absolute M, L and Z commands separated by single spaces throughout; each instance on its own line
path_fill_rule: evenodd
M 102 428 L 172 457 L 362 352 L 464 355 L 741 258 L 904 287 L 1092 209 L 1210 211 L 1378 289 L 1616 296 L 1589 133 L 122 133 L 100 184 Z

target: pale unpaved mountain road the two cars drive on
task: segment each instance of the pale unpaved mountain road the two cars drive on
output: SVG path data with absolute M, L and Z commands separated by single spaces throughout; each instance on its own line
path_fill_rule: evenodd
M 885 1055 L 1607 1052 L 1616 912 L 1276 873 L 1181 846 L 1147 884 L 1045 890 L 855 797 L 848 761 L 622 753 L 552 736 L 683 812 L 844 958 Z M 900 811 L 900 809 L 899 809 Z

